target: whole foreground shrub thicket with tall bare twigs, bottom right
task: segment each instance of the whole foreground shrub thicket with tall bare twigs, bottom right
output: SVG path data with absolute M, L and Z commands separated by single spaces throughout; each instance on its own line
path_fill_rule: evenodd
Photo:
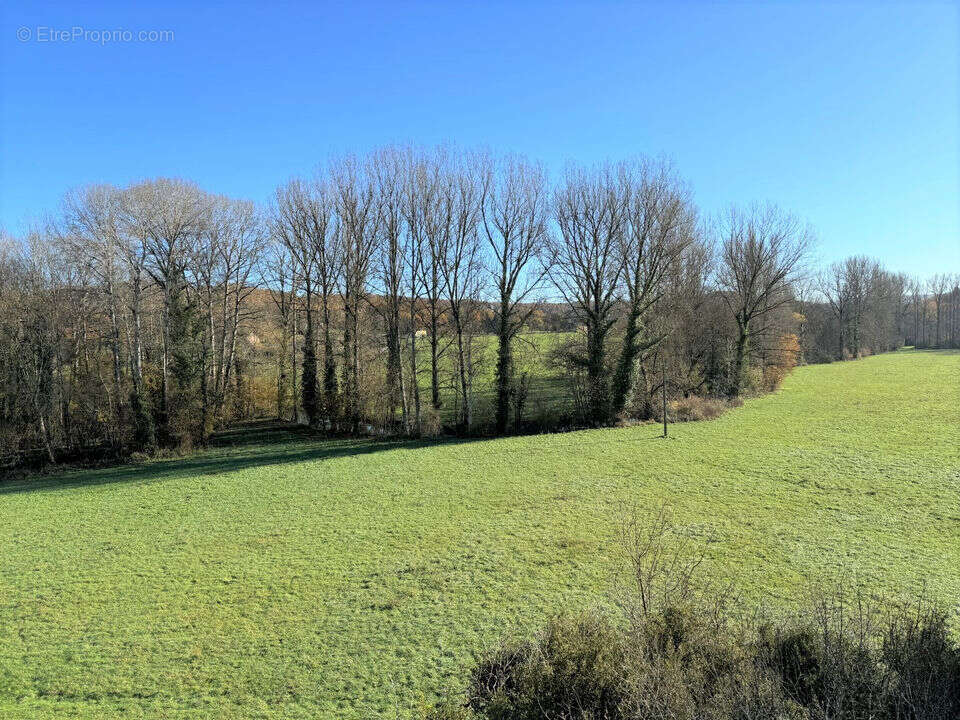
M 871 607 L 820 592 L 774 621 L 738 621 L 729 592 L 700 591 L 661 510 L 624 523 L 622 621 L 563 616 L 481 660 L 465 702 L 434 720 L 956 720 L 960 647 L 924 597 Z

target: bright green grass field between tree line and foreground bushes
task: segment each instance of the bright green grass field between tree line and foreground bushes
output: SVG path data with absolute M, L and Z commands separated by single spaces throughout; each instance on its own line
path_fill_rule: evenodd
M 250 428 L 0 485 L 0 717 L 407 717 L 505 633 L 602 603 L 624 504 L 668 502 L 754 602 L 823 575 L 960 597 L 960 353 L 803 367 L 659 432 Z

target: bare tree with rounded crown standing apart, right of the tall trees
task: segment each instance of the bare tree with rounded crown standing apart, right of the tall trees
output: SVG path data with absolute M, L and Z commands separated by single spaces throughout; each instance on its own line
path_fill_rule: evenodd
M 806 259 L 812 237 L 796 218 L 772 205 L 731 208 L 720 232 L 717 280 L 738 330 L 730 382 L 735 396 L 743 387 L 751 339 L 762 335 L 765 318 L 790 302 L 790 281 Z

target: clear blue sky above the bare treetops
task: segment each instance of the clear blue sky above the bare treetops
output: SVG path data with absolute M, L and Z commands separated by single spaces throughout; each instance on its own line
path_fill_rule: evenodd
M 159 175 L 266 201 L 331 152 L 453 141 L 666 155 L 705 211 L 775 201 L 825 260 L 960 271 L 957 4 L 202 5 L 4 3 L 0 224 Z M 75 27 L 174 36 L 38 41 Z

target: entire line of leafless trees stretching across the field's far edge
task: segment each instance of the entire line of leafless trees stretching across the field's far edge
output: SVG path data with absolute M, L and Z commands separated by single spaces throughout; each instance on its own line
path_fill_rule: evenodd
M 797 362 L 960 346 L 958 276 L 816 271 L 773 205 L 705 218 L 677 170 L 449 147 L 333 160 L 269 207 L 183 180 L 68 193 L 0 242 L 0 456 L 204 443 L 274 415 L 330 433 L 504 434 L 736 398 Z M 557 406 L 531 417 L 534 331 Z M 489 416 L 478 378 L 492 372 Z

